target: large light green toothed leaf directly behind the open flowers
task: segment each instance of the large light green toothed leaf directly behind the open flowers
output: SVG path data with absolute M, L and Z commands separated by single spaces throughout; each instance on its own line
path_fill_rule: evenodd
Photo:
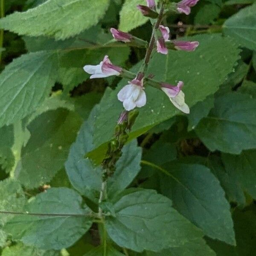
M 240 51 L 233 41 L 220 35 L 200 35 L 191 39 L 200 42 L 195 52 L 169 51 L 167 56 L 155 54 L 148 70 L 158 81 L 176 84 L 182 79 L 185 83 L 185 99 L 190 107 L 218 90 L 219 85 L 233 69 Z M 140 64 L 132 70 L 137 72 Z M 113 136 L 116 120 L 123 109 L 116 95 L 125 84 L 127 80 L 123 79 L 116 90 L 106 90 L 102 98 L 93 139 L 96 147 L 111 140 Z M 140 109 L 130 139 L 180 113 L 161 90 L 146 86 L 145 92 L 147 104 Z

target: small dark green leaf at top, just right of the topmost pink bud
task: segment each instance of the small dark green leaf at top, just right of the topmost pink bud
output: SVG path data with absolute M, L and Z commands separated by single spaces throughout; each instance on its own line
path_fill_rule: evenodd
M 194 23 L 201 25 L 213 23 L 218 18 L 220 12 L 221 8 L 218 5 L 207 3 L 198 10 Z

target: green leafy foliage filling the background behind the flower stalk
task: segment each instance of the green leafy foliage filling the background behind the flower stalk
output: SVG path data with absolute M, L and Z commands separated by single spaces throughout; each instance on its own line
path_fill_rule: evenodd
M 145 49 L 114 43 L 109 29 L 149 40 L 150 21 L 136 9 L 145 1 L 6 1 L 0 19 L 2 256 L 255 254 L 253 2 L 200 0 L 191 15 L 164 20 L 172 38 L 200 45 L 195 52 L 155 53 L 148 74 L 184 81 L 191 113 L 181 114 L 166 95 L 146 87 L 147 104 L 108 180 L 102 224 L 93 219 L 99 163 L 127 80 L 90 80 L 82 67 L 109 55 L 137 72 Z

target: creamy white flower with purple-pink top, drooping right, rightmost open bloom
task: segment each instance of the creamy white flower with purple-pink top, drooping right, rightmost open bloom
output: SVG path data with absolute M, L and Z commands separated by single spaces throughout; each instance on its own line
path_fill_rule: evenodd
M 189 113 L 189 106 L 185 103 L 185 94 L 181 90 L 184 83 L 183 81 L 179 81 L 177 86 L 173 86 L 170 84 L 162 83 L 161 89 L 164 93 L 169 97 L 170 101 L 173 105 L 183 113 Z

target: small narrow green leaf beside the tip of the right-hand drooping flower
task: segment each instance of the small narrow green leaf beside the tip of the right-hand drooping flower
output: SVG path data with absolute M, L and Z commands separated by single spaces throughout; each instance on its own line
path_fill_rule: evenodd
M 209 95 L 202 102 L 197 102 L 191 109 L 187 116 L 189 119 L 188 131 L 195 129 L 200 120 L 208 116 L 210 110 L 214 107 L 214 96 Z

